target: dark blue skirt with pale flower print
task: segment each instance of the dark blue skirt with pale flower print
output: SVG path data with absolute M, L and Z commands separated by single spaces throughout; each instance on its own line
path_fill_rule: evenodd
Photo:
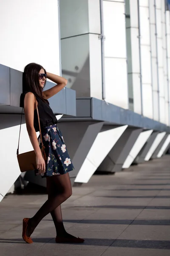
M 41 148 L 42 143 L 40 135 L 38 137 L 38 142 Z M 42 131 L 42 142 L 47 157 L 46 169 L 45 173 L 41 173 L 42 177 L 62 175 L 74 170 L 62 133 L 57 125 L 47 126 Z M 35 170 L 35 174 L 39 175 L 39 170 Z

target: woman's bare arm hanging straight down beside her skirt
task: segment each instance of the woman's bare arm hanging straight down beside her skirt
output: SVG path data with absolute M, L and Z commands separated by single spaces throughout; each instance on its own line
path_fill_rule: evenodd
M 35 103 L 34 94 L 31 92 L 26 93 L 26 96 L 24 99 L 24 113 L 26 118 L 26 128 L 28 131 L 31 144 L 34 148 L 34 151 L 37 157 L 37 169 L 45 171 L 45 162 L 42 157 L 42 153 L 37 140 L 37 134 L 34 128 L 34 103 Z

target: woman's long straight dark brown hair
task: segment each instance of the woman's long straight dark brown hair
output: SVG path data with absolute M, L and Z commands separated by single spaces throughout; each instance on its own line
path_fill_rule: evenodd
M 49 104 L 48 100 L 45 99 L 42 94 L 44 88 L 40 87 L 39 72 L 41 69 L 43 69 L 46 74 L 46 70 L 37 63 L 29 63 L 26 65 L 23 73 L 23 93 L 31 91 L 35 96 L 38 96 L 42 101 Z

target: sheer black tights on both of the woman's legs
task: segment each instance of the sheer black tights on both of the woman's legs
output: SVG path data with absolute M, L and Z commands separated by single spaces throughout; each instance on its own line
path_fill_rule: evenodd
M 69 235 L 62 222 L 61 204 L 72 195 L 71 181 L 69 174 L 54 175 L 47 177 L 48 200 L 42 205 L 38 212 L 29 219 L 27 236 L 31 236 L 34 229 L 48 213 L 54 221 L 57 236 L 73 237 Z

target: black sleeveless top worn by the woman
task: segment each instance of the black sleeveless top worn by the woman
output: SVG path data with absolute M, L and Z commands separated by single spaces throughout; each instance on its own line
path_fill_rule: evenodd
M 20 96 L 20 107 L 24 107 L 24 98 L 27 92 L 24 92 Z M 44 102 L 38 96 L 36 96 L 38 102 L 38 112 L 40 116 L 40 127 L 43 130 L 45 127 L 49 125 L 57 124 L 57 118 L 54 115 L 52 109 L 48 105 L 48 103 Z M 39 124 L 38 124 L 38 116 L 37 116 L 37 109 L 34 110 L 34 128 L 35 131 L 40 131 Z

